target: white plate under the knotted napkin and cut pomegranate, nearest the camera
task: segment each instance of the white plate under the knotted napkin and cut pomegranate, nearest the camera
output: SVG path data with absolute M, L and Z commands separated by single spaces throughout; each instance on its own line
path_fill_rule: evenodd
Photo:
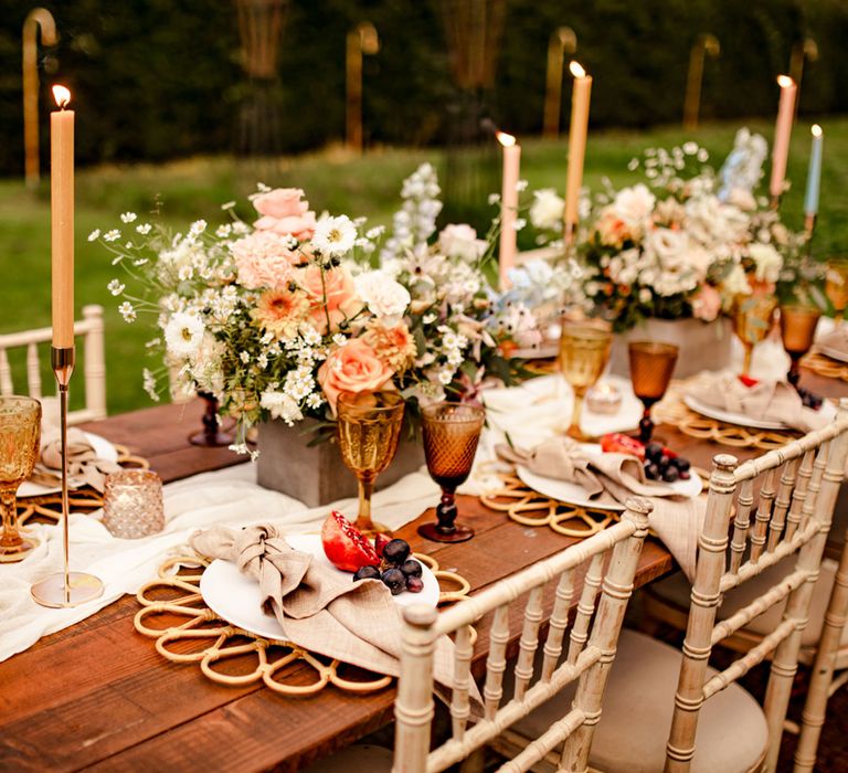
M 353 575 L 350 572 L 336 569 L 327 560 L 320 534 L 292 534 L 286 537 L 286 542 L 295 550 L 311 553 L 320 564 L 343 575 L 349 582 L 353 582 Z M 423 563 L 421 568 L 424 590 L 421 593 L 404 591 L 392 596 L 399 606 L 427 604 L 435 607 L 438 603 L 438 580 Z M 200 593 L 209 608 L 232 625 L 265 638 L 286 638 L 277 618 L 263 612 L 258 583 L 240 572 L 234 563 L 215 559 L 209 564 L 200 578 Z

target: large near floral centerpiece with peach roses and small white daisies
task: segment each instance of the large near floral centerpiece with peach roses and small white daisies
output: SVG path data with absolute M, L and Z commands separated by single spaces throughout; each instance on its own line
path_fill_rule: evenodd
M 148 348 L 163 362 L 144 371 L 150 396 L 168 375 L 214 394 L 247 451 L 246 431 L 265 420 L 328 427 L 342 392 L 399 390 L 414 409 L 474 399 L 487 379 L 523 372 L 505 345 L 533 339 L 533 315 L 500 303 L 487 280 L 492 239 L 468 225 L 436 233 L 438 195 L 422 166 L 384 244 L 380 226 L 318 216 L 304 191 L 264 186 L 251 197 L 253 222 L 231 202 L 231 221 L 214 230 L 199 220 L 174 234 L 125 213 L 123 229 L 89 239 L 139 288 L 109 284 L 124 318 L 155 320 Z

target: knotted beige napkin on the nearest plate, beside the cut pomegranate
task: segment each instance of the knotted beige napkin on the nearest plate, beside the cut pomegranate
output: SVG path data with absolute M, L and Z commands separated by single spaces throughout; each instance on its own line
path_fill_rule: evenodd
M 241 531 L 214 527 L 191 536 L 201 555 L 233 561 L 259 583 L 263 608 L 273 612 L 294 644 L 377 674 L 400 675 L 401 613 L 375 580 L 352 582 L 294 550 L 271 525 Z M 436 680 L 453 685 L 453 644 L 436 643 Z

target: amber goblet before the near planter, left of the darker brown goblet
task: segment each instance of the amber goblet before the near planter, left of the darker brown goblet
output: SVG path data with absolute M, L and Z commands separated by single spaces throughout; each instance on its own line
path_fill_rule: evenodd
M 371 495 L 377 476 L 398 452 L 403 409 L 404 401 L 398 392 L 344 393 L 336 405 L 341 458 L 359 481 L 356 526 L 363 534 L 390 533 L 371 520 Z

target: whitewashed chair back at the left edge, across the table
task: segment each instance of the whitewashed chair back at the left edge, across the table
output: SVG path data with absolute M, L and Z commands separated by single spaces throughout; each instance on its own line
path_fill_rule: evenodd
M 83 319 L 74 322 L 74 336 L 83 338 L 82 351 L 77 351 L 77 367 L 82 354 L 85 407 L 71 411 L 67 414 L 67 421 L 70 424 L 81 424 L 106 417 L 103 306 L 83 307 Z M 25 349 L 26 394 L 39 400 L 44 396 L 40 348 L 49 360 L 49 343 L 52 337 L 51 328 L 0 335 L 0 394 L 22 394 L 20 391 L 15 392 L 8 352 L 10 349 Z M 55 393 L 55 384 L 52 386 L 52 392 Z

